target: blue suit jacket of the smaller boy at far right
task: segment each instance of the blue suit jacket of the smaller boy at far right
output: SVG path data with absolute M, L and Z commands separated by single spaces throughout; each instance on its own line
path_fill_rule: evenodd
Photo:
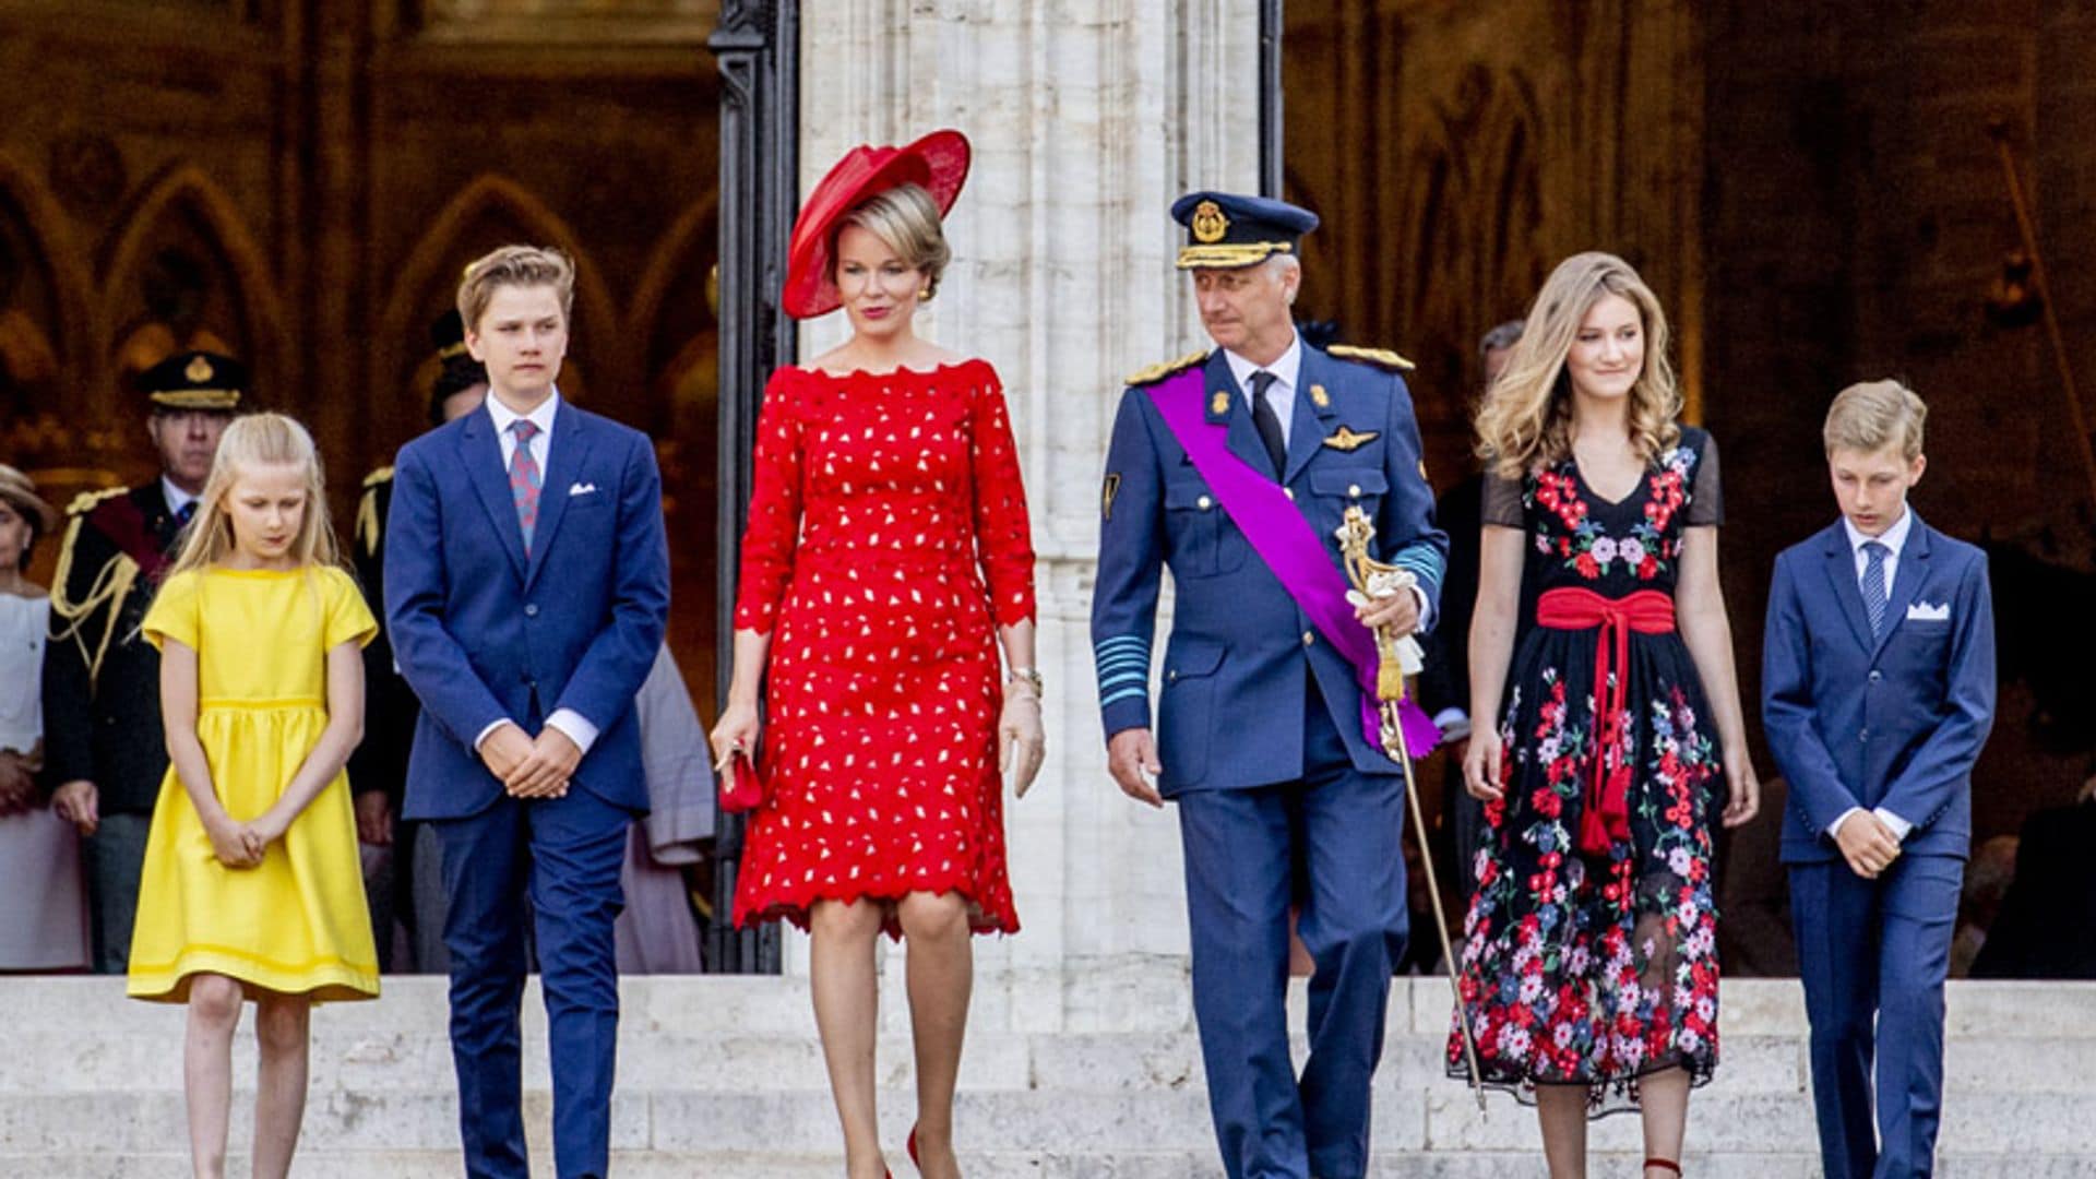
M 1943 606 L 1943 619 L 1909 613 Z M 1784 550 L 1761 661 L 1761 722 L 1790 780 L 1784 862 L 1838 858 L 1826 829 L 1851 806 L 1912 822 L 1909 854 L 1966 856 L 1972 764 L 1993 728 L 1993 690 L 1981 550 L 1916 516 L 1876 640 L 1840 520 Z

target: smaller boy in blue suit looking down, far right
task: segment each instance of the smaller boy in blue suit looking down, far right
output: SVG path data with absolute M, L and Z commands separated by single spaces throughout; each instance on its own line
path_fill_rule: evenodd
M 1790 778 L 1782 856 L 1828 1179 L 1935 1166 L 1943 980 L 1993 726 L 1987 558 L 1907 506 L 1926 413 L 1891 380 L 1834 399 L 1842 518 L 1777 556 L 1769 590 L 1761 715 Z

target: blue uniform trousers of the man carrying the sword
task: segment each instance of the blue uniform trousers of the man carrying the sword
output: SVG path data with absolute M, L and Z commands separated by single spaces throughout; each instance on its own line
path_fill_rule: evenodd
M 1356 772 L 1312 688 L 1302 780 L 1191 791 L 1193 1007 L 1230 1179 L 1360 1179 L 1369 1082 L 1404 957 L 1404 776 Z M 1310 1059 L 1289 1059 L 1289 902 L 1316 973 Z

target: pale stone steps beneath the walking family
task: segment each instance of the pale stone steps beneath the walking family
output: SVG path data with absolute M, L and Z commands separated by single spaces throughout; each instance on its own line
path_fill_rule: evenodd
M 899 955 L 882 980 L 880 1085 L 889 1162 L 914 1095 Z M 1297 1026 L 1302 1020 L 1297 988 Z M 130 1003 L 122 982 L 0 980 L 0 1175 L 187 1175 L 182 1013 Z M 1534 1114 L 1492 1095 L 1480 1114 L 1440 1074 L 1448 988 L 1398 980 L 1377 1074 L 1377 1177 L 1543 1175 Z M 1819 1173 L 1796 982 L 1725 984 L 1723 1064 L 1689 1110 L 1694 1179 Z M 2096 984 L 1951 984 L 1947 1179 L 2096 1177 Z M 235 1047 L 233 1175 L 245 1175 L 254 1045 Z M 547 1162 L 545 1026 L 526 996 L 534 1164 Z M 1184 963 L 1098 963 L 1040 976 L 985 969 L 958 1108 L 970 1179 L 1220 1175 Z M 620 1179 L 834 1179 L 843 1150 L 805 980 L 625 982 L 612 1171 Z M 1637 1118 L 1593 1127 L 1593 1175 L 1637 1175 Z M 388 978 L 379 1003 L 314 1013 L 302 1179 L 461 1173 L 444 990 Z

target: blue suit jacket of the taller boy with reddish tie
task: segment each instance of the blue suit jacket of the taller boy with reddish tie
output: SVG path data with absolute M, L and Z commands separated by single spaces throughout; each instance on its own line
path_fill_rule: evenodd
M 562 399 L 530 556 L 495 420 L 478 409 L 400 449 L 386 516 L 386 623 L 421 696 L 407 818 L 463 818 L 503 787 L 474 753 L 499 720 L 597 726 L 574 783 L 648 810 L 633 696 L 669 615 L 662 478 L 637 430 Z

